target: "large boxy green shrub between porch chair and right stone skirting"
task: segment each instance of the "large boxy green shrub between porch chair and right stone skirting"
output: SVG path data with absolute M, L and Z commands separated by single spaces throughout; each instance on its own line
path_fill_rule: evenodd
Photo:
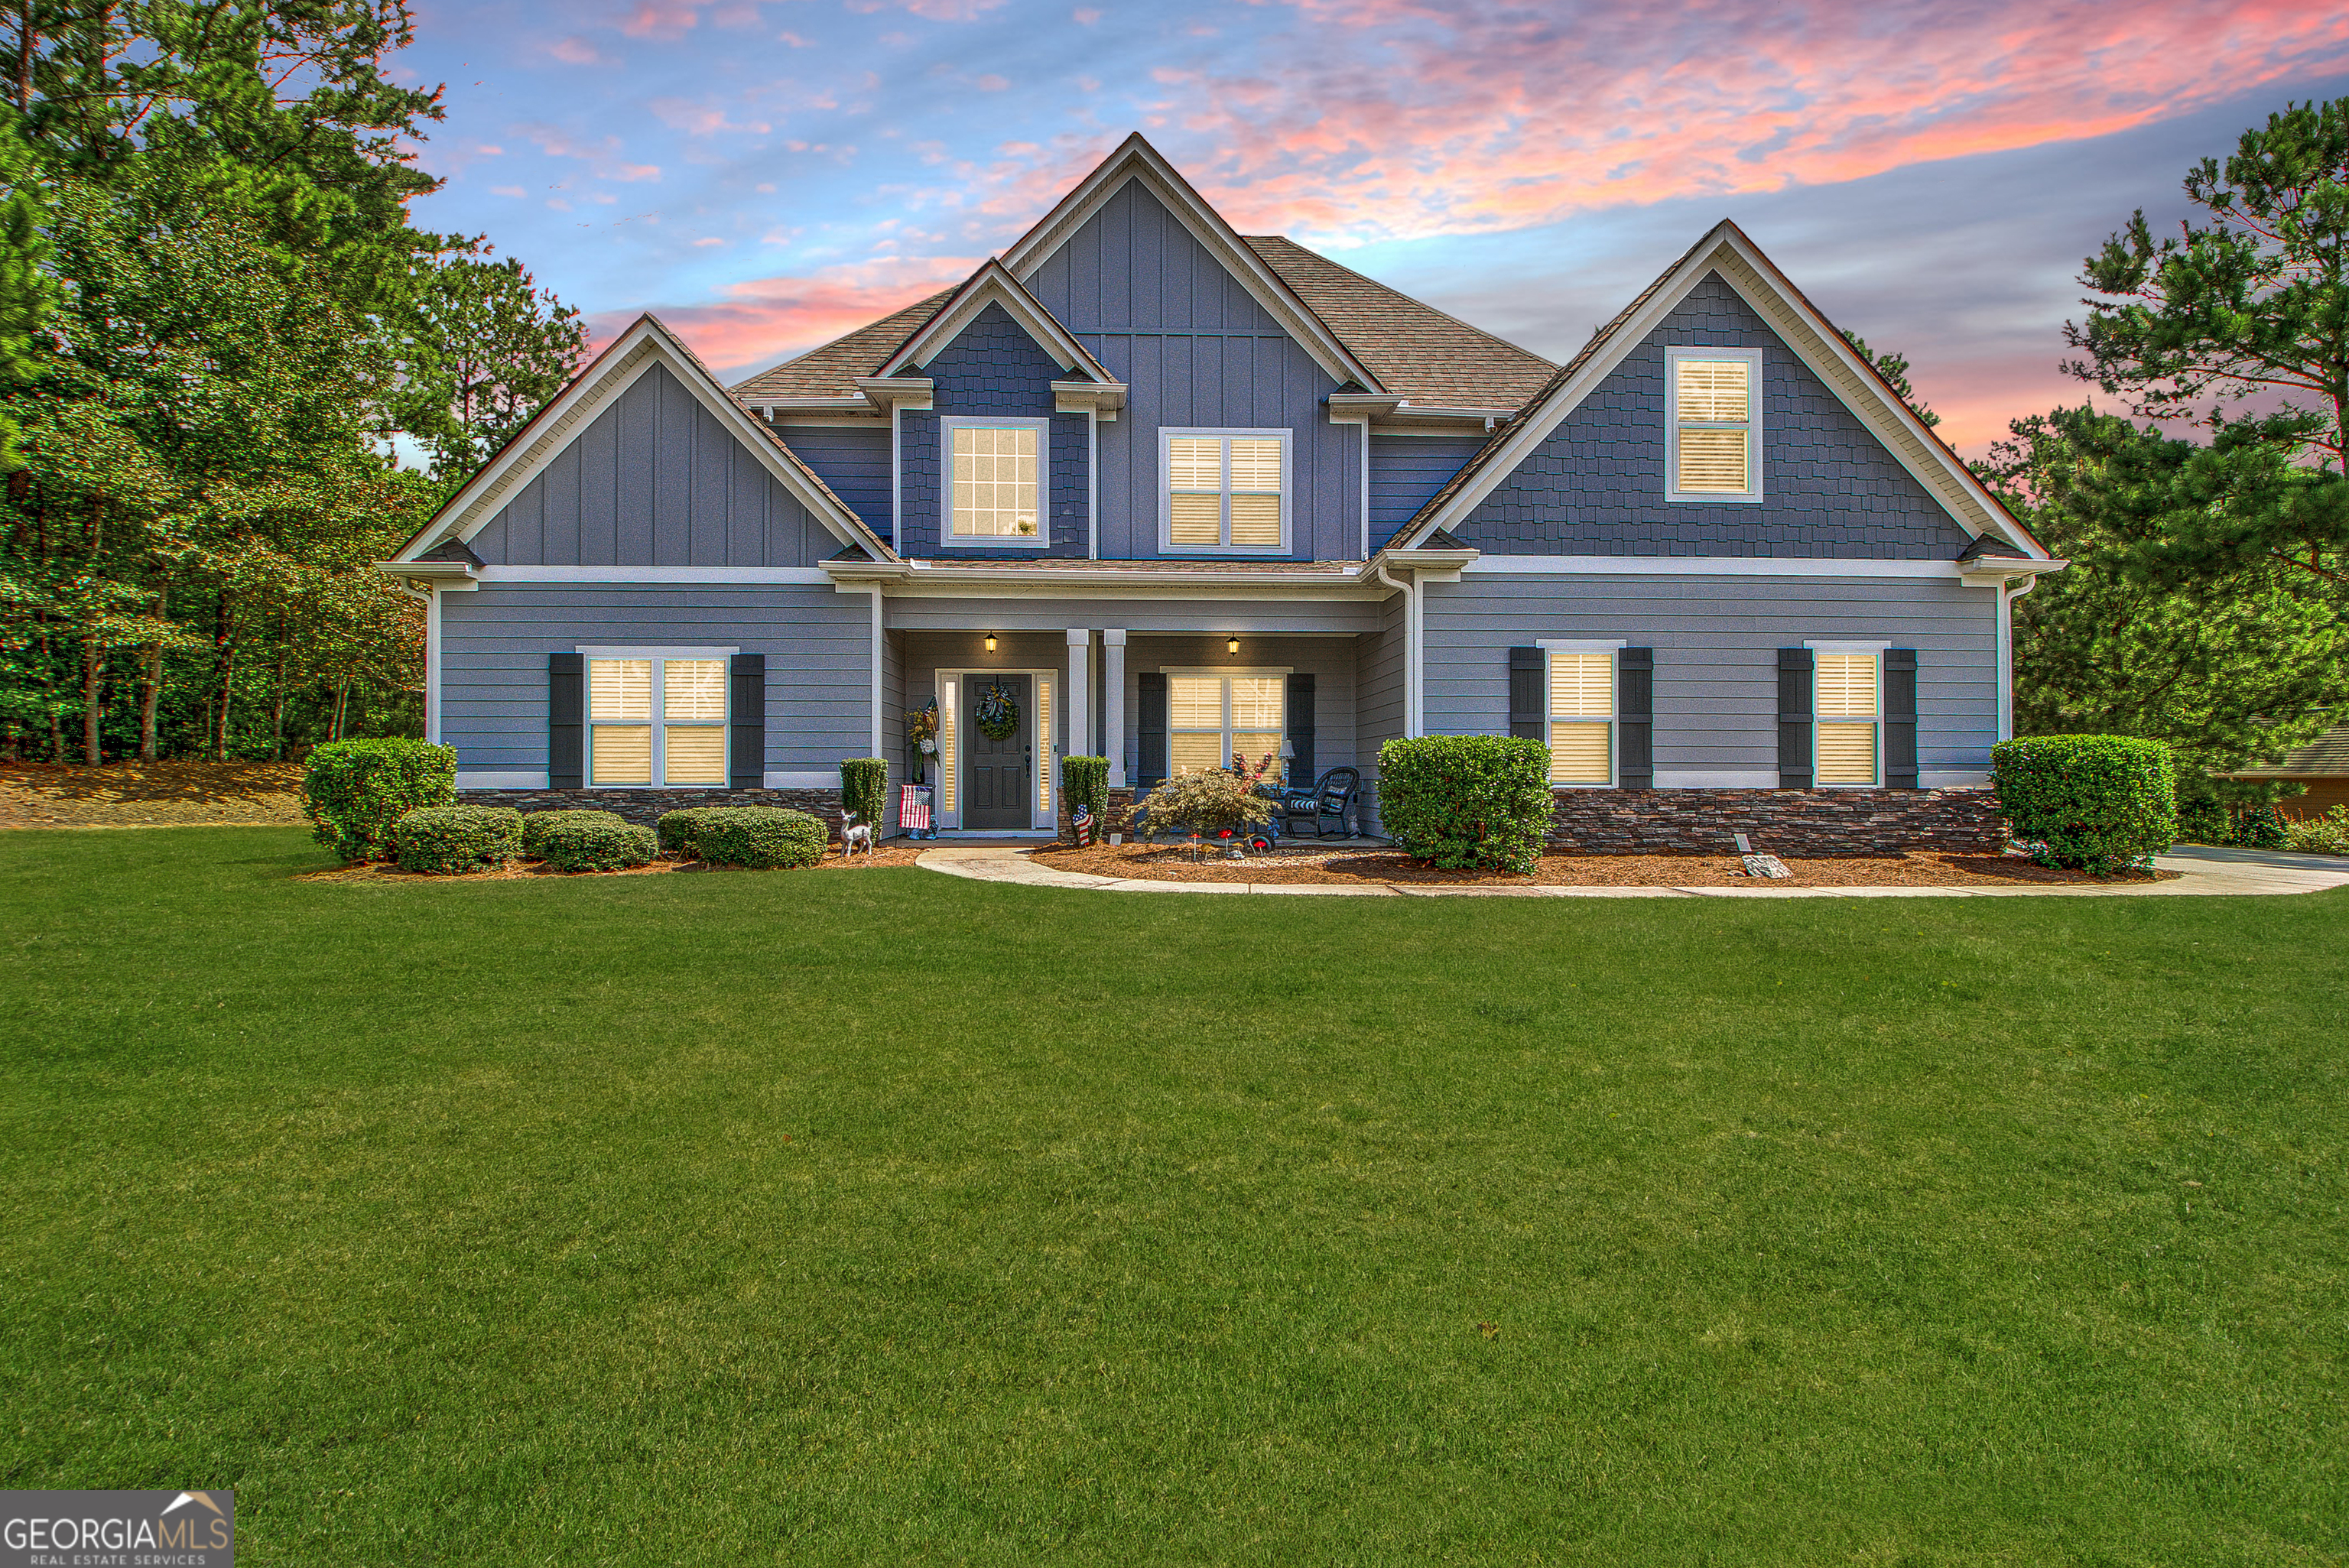
M 1529 876 L 1550 831 L 1550 749 L 1506 735 L 1391 739 L 1379 822 L 1428 864 Z

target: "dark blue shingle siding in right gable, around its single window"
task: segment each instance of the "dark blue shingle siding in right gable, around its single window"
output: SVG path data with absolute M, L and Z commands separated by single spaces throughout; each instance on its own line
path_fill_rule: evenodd
M 1663 500 L 1665 345 L 1762 350 L 1759 502 Z M 1492 554 L 1914 561 L 1971 538 L 1717 275 L 1452 533 Z

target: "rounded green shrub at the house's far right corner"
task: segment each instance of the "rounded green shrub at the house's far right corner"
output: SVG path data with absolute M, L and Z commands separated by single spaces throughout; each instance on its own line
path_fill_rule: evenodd
M 2178 843 L 2170 749 L 2133 735 L 2034 735 L 1990 749 L 1999 810 L 2039 859 L 2109 876 Z

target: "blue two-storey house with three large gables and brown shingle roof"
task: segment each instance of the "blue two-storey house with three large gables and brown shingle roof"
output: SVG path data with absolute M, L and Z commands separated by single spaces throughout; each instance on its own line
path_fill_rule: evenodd
M 1071 751 L 1287 746 L 1374 810 L 1384 742 L 1482 732 L 1550 744 L 1567 840 L 1722 850 L 1992 833 L 2060 566 L 1736 225 L 1555 366 L 1135 136 L 731 392 L 641 317 L 385 570 L 467 791 L 829 805 L 935 699 L 944 829 L 1052 829 Z

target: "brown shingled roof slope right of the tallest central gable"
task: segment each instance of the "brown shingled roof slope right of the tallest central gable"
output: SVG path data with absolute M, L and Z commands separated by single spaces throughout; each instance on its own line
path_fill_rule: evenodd
M 1557 369 L 1532 350 L 1341 268 L 1285 235 L 1245 239 L 1353 357 L 1405 401 L 1433 408 L 1517 408 Z

